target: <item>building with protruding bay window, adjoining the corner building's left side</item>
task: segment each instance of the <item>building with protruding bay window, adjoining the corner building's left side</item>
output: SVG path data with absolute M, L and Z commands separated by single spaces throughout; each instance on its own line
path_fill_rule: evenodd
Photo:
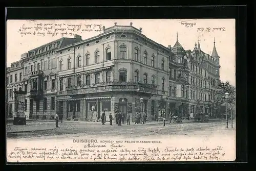
M 54 119 L 56 110 L 57 58 L 55 51 L 81 41 L 81 36 L 60 38 L 22 55 L 24 90 L 27 92 L 25 115 L 31 119 Z

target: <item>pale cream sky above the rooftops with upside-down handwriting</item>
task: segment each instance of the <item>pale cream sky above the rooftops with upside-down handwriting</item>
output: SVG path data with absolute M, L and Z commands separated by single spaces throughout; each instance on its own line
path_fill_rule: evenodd
M 82 36 L 82 39 L 88 39 L 96 36 L 103 31 L 94 31 L 94 25 L 101 25 L 105 28 L 114 26 L 129 26 L 130 22 L 133 27 L 142 28 L 142 34 L 164 46 L 174 46 L 178 40 L 185 50 L 193 51 L 195 42 L 198 44 L 200 40 L 201 50 L 211 55 L 214 39 L 216 49 L 220 56 L 220 80 L 229 81 L 230 84 L 236 85 L 236 37 L 235 37 L 235 20 L 234 19 L 104 19 L 104 20 L 8 20 L 7 21 L 7 66 L 12 62 L 20 60 L 20 55 L 61 38 L 60 34 L 56 36 L 45 33 L 37 35 L 35 30 L 37 24 L 46 23 L 61 24 L 56 28 L 67 28 L 67 25 L 82 25 L 82 28 L 77 31 L 69 31 L 72 34 Z M 188 23 L 185 25 L 184 23 Z M 64 26 L 65 25 L 65 26 Z M 86 28 L 85 25 L 92 25 L 92 31 L 82 31 Z M 49 26 L 50 27 L 50 26 Z M 72 26 L 70 26 L 71 28 Z M 96 29 L 98 28 L 95 26 Z M 76 27 L 76 29 L 79 27 Z M 200 28 L 204 30 L 201 31 Z M 221 29 L 216 29 L 221 28 Z M 33 34 L 24 34 L 25 32 Z M 56 31 L 56 32 L 60 32 Z M 23 34 L 22 34 L 23 33 Z M 74 37 L 74 35 L 64 35 L 63 37 Z

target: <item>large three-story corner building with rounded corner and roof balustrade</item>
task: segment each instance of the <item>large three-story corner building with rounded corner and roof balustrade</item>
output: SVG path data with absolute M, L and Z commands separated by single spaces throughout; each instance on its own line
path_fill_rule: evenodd
M 123 112 L 134 120 L 141 106 L 152 119 L 158 101 L 168 95 L 169 49 L 141 32 L 132 23 L 115 23 L 98 36 L 56 51 L 63 119 L 98 119 L 105 110 L 107 117 Z

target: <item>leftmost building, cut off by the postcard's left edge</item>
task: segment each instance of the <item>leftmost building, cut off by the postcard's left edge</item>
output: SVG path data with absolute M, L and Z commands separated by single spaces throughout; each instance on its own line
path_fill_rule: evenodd
M 11 67 L 7 67 L 6 77 L 7 88 L 7 118 L 15 116 L 15 95 L 14 91 L 24 90 L 23 85 L 23 61 L 19 60 L 11 63 Z

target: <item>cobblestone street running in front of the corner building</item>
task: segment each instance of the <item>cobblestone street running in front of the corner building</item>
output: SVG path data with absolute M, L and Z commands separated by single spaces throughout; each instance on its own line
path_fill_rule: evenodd
M 100 136 L 118 136 L 125 137 L 141 137 L 151 136 L 156 134 L 176 134 L 186 135 L 193 134 L 195 131 L 204 134 L 204 130 L 221 130 L 225 128 L 224 120 L 212 120 L 208 123 L 183 123 L 183 124 L 169 124 L 163 127 L 163 124 L 146 124 L 146 125 L 122 125 L 121 127 L 115 125 L 110 126 L 109 123 L 102 125 L 101 123 L 62 123 L 59 128 L 54 128 L 55 123 L 42 123 L 39 121 L 30 124 L 31 127 L 48 128 L 48 130 L 37 130 L 30 132 L 16 132 L 8 133 L 9 139 L 26 138 L 28 139 L 51 139 L 51 138 L 68 138 L 68 137 L 100 137 Z M 24 127 L 24 126 L 23 126 Z M 234 125 L 235 128 L 235 125 Z

